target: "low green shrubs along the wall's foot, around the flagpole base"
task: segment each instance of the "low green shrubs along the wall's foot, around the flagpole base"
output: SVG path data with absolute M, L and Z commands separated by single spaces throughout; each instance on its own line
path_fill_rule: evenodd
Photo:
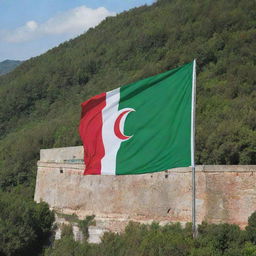
M 105 233 L 98 245 L 76 242 L 70 227 L 61 240 L 45 250 L 45 256 L 255 256 L 256 213 L 246 230 L 236 225 L 203 223 L 193 239 L 191 225 L 159 226 L 130 223 L 124 233 Z

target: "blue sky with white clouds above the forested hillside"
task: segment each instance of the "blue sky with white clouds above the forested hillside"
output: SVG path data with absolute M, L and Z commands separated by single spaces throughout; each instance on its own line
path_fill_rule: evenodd
M 155 0 L 0 0 L 0 62 L 26 60 L 74 38 L 107 16 Z

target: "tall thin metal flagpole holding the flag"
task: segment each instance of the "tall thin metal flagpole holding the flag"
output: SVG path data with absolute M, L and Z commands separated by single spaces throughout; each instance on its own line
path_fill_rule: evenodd
M 192 167 L 192 232 L 197 236 L 196 227 L 196 180 L 195 180 L 195 117 L 196 117 L 196 60 L 193 61 L 192 110 L 191 110 L 191 167 Z

